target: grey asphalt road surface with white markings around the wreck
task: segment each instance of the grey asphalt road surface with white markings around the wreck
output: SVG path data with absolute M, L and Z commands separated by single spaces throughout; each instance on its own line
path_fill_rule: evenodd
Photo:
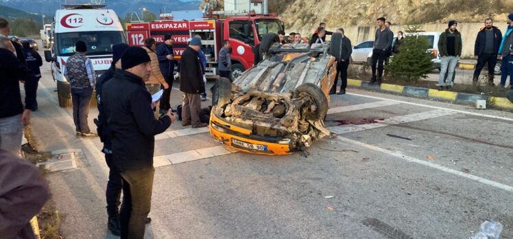
M 117 238 L 101 143 L 75 137 L 46 62 L 38 102 L 37 149 L 76 157 L 76 169 L 47 174 L 62 234 Z M 358 89 L 330 108 L 337 136 L 308 157 L 232 152 L 174 123 L 156 137 L 147 238 L 468 238 L 492 219 L 513 238 L 513 113 Z

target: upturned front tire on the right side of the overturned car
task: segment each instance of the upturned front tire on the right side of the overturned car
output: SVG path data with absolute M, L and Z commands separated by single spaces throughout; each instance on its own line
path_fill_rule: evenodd
M 301 93 L 307 93 L 313 101 L 317 110 L 306 115 L 307 120 L 322 120 L 328 113 L 328 99 L 324 95 L 321 89 L 312 83 L 301 84 L 296 90 L 294 90 L 294 98 L 299 98 Z

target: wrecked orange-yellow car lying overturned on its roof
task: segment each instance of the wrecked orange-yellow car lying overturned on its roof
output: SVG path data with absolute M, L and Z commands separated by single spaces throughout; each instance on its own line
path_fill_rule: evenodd
M 332 43 L 340 35 L 332 36 Z M 283 45 L 263 36 L 263 61 L 234 82 L 213 87 L 210 133 L 228 147 L 262 155 L 305 150 L 330 135 L 324 127 L 329 91 L 337 76 L 331 43 Z

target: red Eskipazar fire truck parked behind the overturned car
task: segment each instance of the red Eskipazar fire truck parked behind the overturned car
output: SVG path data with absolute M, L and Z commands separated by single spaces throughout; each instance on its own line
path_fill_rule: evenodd
M 206 76 L 215 76 L 217 55 L 223 41 L 230 41 L 232 47 L 232 79 L 254 64 L 254 46 L 260 44 L 263 34 L 284 30 L 283 21 L 274 14 L 244 14 L 226 19 L 195 19 L 189 21 L 157 20 L 150 23 L 126 23 L 129 45 L 144 45 L 146 38 L 155 38 L 163 43 L 164 34 L 173 39 L 174 58 L 180 60 L 187 48 L 187 39 L 200 36 L 202 51 L 207 60 Z

